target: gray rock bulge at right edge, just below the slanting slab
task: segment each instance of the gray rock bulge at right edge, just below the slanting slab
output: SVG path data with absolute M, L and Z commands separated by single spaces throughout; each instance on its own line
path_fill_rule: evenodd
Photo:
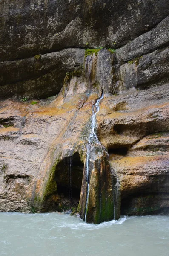
M 121 90 L 147 89 L 169 82 L 169 47 L 135 58 L 119 68 Z

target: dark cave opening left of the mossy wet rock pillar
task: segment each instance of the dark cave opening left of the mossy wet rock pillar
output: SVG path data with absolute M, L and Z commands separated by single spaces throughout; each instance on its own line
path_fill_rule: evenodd
M 83 163 L 79 153 L 65 157 L 57 165 L 54 180 L 57 183 L 57 192 L 63 204 L 67 207 L 77 206 L 83 178 Z

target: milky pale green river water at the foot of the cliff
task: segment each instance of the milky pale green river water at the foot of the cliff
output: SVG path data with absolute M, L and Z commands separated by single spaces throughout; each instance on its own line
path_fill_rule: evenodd
M 99 225 L 63 213 L 0 213 L 0 256 L 169 256 L 169 216 Z

